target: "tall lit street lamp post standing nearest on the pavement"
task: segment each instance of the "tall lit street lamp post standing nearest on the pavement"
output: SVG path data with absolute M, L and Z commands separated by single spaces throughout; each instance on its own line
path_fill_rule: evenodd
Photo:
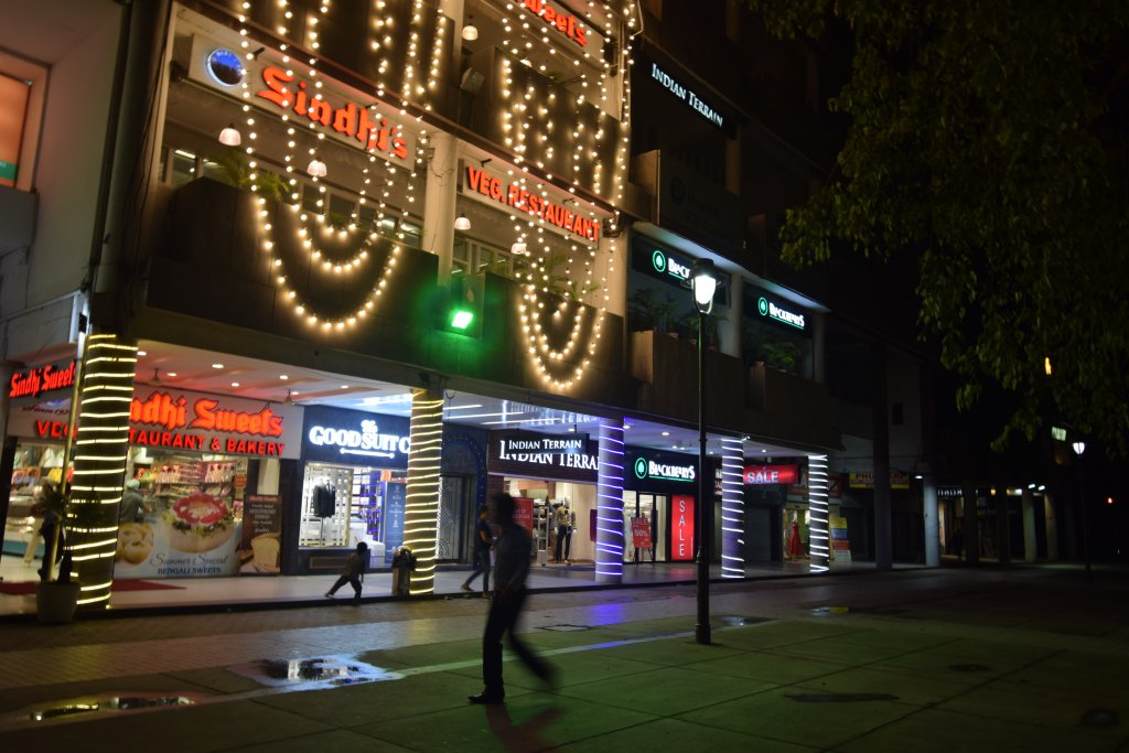
M 694 262 L 690 273 L 690 287 L 698 308 L 698 624 L 694 638 L 699 643 L 709 645 L 709 558 L 714 520 L 712 499 L 707 497 L 709 484 L 706 473 L 706 316 L 714 310 L 714 294 L 717 291 L 717 269 L 708 259 Z

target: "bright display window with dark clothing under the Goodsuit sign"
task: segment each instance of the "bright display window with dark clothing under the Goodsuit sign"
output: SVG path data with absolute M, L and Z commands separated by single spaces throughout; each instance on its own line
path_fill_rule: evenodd
M 404 540 L 406 498 L 405 471 L 307 463 L 298 545 L 353 549 L 365 542 L 371 562 L 387 559 L 391 566 Z

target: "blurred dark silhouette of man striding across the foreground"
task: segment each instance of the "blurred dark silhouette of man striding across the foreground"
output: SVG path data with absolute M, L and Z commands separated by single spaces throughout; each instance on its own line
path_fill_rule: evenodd
M 509 636 L 509 647 L 530 671 L 553 685 L 555 671 L 537 658 L 518 639 L 514 629 L 525 604 L 525 578 L 530 573 L 533 540 L 530 533 L 514 520 L 514 498 L 506 493 L 495 496 L 495 520 L 501 528 L 495 543 L 495 597 L 490 616 L 482 636 L 482 683 L 476 695 L 469 695 L 471 703 L 504 703 L 506 688 L 501 677 L 501 638 Z

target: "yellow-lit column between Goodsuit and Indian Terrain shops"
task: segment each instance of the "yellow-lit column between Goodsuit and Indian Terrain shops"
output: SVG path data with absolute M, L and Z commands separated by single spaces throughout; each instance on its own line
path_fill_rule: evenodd
M 417 558 L 409 594 L 435 593 L 435 555 L 439 536 L 439 455 L 443 450 L 443 394 L 412 391 L 411 450 L 404 546 Z

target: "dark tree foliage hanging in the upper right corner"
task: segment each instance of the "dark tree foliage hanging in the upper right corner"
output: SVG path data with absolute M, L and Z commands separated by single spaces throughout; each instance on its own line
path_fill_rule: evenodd
M 849 119 L 785 259 L 919 260 L 922 336 L 957 404 L 1129 449 L 1129 2 L 749 0 L 781 37 L 849 35 Z M 1044 371 L 1049 358 L 1052 375 Z

